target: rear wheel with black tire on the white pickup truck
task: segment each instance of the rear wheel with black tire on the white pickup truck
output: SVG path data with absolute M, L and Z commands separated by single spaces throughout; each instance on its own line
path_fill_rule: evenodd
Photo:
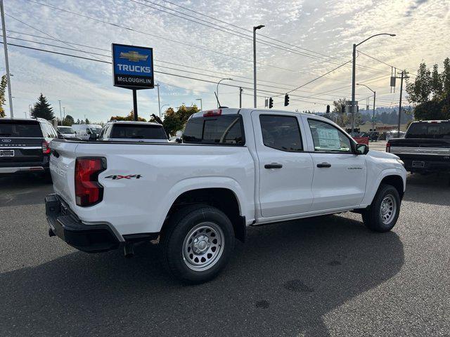
M 198 246 L 194 246 L 195 239 Z M 233 225 L 222 211 L 203 204 L 187 206 L 169 218 L 162 232 L 162 263 L 183 282 L 207 282 L 228 263 L 234 240 Z

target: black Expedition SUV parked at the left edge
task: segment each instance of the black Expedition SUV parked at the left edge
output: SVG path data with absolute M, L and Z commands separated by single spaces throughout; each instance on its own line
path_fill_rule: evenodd
M 46 119 L 0 118 L 0 173 L 48 173 L 53 138 L 56 130 Z

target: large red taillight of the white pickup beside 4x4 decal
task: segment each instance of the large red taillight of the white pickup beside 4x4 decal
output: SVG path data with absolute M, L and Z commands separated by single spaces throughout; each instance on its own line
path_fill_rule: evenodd
M 106 169 L 103 158 L 77 158 L 75 162 L 75 200 L 78 206 L 92 206 L 103 199 L 98 174 Z

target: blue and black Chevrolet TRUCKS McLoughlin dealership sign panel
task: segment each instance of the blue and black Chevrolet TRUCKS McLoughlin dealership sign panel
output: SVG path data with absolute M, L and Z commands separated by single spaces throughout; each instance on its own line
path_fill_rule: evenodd
M 153 88 L 153 48 L 113 44 L 113 77 L 122 88 Z

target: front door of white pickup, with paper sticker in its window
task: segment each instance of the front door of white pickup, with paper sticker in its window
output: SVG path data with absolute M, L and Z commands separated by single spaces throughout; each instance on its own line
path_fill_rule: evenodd
M 361 203 L 366 191 L 366 156 L 352 152 L 350 138 L 326 121 L 304 117 L 311 130 L 314 161 L 311 211 L 323 211 Z

